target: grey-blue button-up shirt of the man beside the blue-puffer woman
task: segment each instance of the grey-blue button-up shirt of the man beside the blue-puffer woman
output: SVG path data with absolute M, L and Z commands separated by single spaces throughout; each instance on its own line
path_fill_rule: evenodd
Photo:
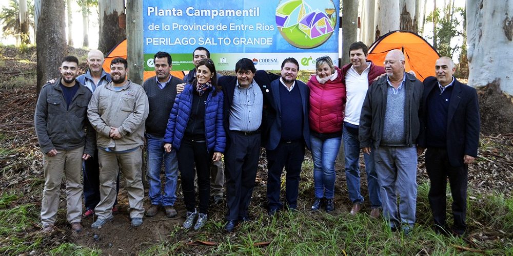
M 262 123 L 263 101 L 262 91 L 254 79 L 248 88 L 241 87 L 237 81 L 230 109 L 230 130 L 257 131 Z

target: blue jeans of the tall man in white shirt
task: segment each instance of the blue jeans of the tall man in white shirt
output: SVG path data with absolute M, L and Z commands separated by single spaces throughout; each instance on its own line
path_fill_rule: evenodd
M 354 203 L 363 203 L 360 194 L 360 141 L 358 140 L 358 125 L 344 122 L 342 130 L 344 139 L 344 156 L 347 191 L 349 200 Z M 365 171 L 367 172 L 367 187 L 371 208 L 381 207 L 380 184 L 374 165 L 374 152 L 363 154 Z

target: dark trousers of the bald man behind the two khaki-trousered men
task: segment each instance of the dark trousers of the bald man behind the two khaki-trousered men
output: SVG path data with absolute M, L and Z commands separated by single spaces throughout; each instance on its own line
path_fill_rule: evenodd
M 84 176 L 84 205 L 86 210 L 94 209 L 100 203 L 100 164 L 98 164 L 98 150 L 94 151 L 94 156 L 85 160 L 82 165 L 82 174 Z M 120 191 L 120 176 L 117 176 L 116 184 L 116 200 L 117 193 Z

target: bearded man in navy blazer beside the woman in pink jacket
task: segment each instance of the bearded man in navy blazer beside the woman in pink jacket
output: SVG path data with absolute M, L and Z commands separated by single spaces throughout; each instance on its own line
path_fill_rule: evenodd
M 289 209 L 297 208 L 301 164 L 305 146 L 310 148 L 308 125 L 309 90 L 298 77 L 299 63 L 294 58 L 282 62 L 281 77 L 271 82 L 265 94 L 272 95 L 268 111 L 268 138 L 264 141 L 267 155 L 268 214 L 273 216 L 282 208 L 280 177 L 286 175 L 286 200 Z M 269 91 L 267 91 L 269 90 Z

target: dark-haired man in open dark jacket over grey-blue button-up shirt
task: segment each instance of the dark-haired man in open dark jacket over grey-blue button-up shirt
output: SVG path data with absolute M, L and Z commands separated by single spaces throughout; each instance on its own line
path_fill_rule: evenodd
M 226 131 L 225 175 L 228 211 L 225 229 L 231 232 L 239 221 L 249 221 L 248 208 L 257 177 L 261 134 L 265 127 L 264 105 L 270 99 L 270 81 L 279 77 L 255 69 L 242 58 L 235 64 L 237 76 L 223 76 L 224 129 Z M 267 111 L 266 111 L 267 112 Z

